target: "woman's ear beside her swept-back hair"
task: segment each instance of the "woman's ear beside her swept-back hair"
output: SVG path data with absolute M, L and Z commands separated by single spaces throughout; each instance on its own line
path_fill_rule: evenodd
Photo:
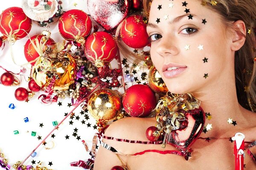
M 233 37 L 231 50 L 238 51 L 245 42 L 246 27 L 244 21 L 237 20 L 233 23 Z

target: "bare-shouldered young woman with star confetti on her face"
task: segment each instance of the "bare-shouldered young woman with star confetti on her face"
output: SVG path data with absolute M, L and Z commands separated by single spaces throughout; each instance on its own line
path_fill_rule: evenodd
M 144 150 L 177 150 L 169 144 L 162 148 L 102 139 L 122 154 L 100 146 L 94 170 L 122 164 L 130 170 L 234 170 L 230 137 L 241 132 L 245 141 L 256 140 L 256 113 L 247 110 L 255 111 L 256 102 L 256 0 L 145 0 L 144 8 L 149 12 L 151 59 L 169 91 L 189 92 L 201 100 L 210 115 L 208 131 L 200 137 L 209 139 L 196 140 L 188 161 L 156 152 L 131 156 Z M 120 119 L 105 136 L 148 141 L 145 131 L 155 123 L 155 118 Z M 247 170 L 256 169 L 247 153 L 244 164 Z

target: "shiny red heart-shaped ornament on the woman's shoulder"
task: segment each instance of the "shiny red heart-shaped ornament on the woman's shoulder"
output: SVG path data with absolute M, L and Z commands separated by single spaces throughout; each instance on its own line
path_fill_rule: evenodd
M 172 130 L 166 136 L 166 143 L 186 151 L 198 139 L 204 129 L 205 113 L 200 107 L 189 111 L 183 111 L 186 120 L 181 121 L 185 127 L 182 129 Z M 182 126 L 181 126 L 182 127 Z

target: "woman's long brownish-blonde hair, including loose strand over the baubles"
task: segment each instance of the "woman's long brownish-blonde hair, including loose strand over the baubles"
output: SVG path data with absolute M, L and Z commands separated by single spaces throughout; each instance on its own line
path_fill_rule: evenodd
M 240 105 L 256 112 L 256 0 L 218 0 L 216 6 L 211 4 L 211 0 L 200 1 L 205 2 L 205 7 L 220 14 L 223 23 L 230 30 L 239 31 L 239 28 L 232 28 L 231 23 L 242 20 L 246 30 L 251 31 L 250 34 L 243 34 L 246 37 L 244 45 L 235 53 L 236 93 Z M 143 0 L 145 17 L 148 17 L 151 2 L 152 0 Z M 119 30 L 116 35 L 118 37 Z M 124 50 L 120 43 L 119 47 Z

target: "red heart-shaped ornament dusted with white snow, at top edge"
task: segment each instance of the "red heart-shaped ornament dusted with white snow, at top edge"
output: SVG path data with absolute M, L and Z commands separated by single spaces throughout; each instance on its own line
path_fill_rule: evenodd
M 87 0 L 88 10 L 93 20 L 105 30 L 111 31 L 127 17 L 130 0 Z

